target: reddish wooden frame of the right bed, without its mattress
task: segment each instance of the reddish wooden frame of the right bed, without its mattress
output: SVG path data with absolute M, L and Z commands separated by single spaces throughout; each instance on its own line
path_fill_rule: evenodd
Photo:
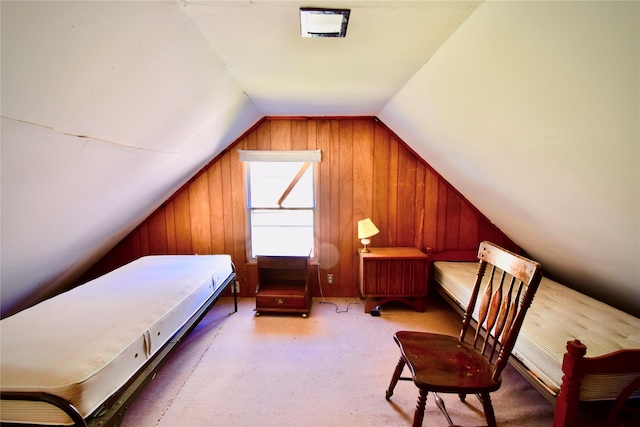
M 445 251 L 433 253 L 427 248 L 429 259 L 427 260 L 427 274 L 432 283 L 433 263 L 436 261 L 478 262 L 477 251 Z M 458 313 L 464 315 L 464 308 L 460 307 L 439 285 L 438 293 Z M 538 390 L 550 403 L 555 406 L 553 427 L 577 427 L 582 426 L 584 420 L 580 420 L 579 400 L 582 379 L 589 374 L 620 374 L 638 372 L 640 363 L 640 349 L 620 350 L 614 353 L 598 357 L 585 357 L 587 347 L 579 340 L 567 342 L 567 353 L 562 363 L 562 385 L 559 394 L 548 388 L 534 373 L 515 357 L 509 358 L 509 363 L 526 378 L 533 387 Z M 613 402 L 607 418 L 607 426 L 615 425 L 620 411 L 627 399 L 640 389 L 640 377 L 636 378 Z M 640 414 L 634 415 L 640 419 Z

